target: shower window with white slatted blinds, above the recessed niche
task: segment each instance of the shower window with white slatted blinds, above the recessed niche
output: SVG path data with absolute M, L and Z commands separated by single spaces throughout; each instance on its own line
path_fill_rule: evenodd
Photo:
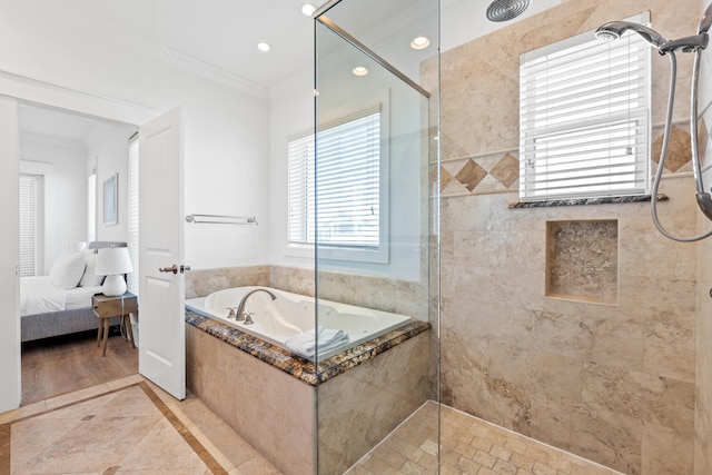
M 589 32 L 522 55 L 521 200 L 650 192 L 650 55 L 630 32 L 611 42 Z

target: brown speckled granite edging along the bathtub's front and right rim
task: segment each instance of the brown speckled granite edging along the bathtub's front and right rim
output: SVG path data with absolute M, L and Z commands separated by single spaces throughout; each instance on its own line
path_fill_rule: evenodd
M 315 369 L 314 362 L 194 311 L 186 310 L 186 323 L 312 386 L 318 386 L 431 328 L 431 324 L 414 320 L 396 330 L 319 362 L 318 369 Z

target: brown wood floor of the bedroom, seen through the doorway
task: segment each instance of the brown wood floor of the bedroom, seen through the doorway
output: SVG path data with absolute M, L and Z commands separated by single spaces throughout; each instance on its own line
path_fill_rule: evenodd
M 22 405 L 137 374 L 138 349 L 110 335 L 106 357 L 96 331 L 23 343 Z

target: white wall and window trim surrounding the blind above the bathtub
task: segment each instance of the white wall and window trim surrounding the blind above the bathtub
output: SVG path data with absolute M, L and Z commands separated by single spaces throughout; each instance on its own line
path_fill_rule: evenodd
M 427 170 L 422 157 L 419 136 L 421 96 L 399 79 L 378 68 L 365 78 L 354 79 L 354 65 L 343 60 L 340 67 L 326 66 L 319 81 L 319 116 L 324 122 L 353 115 L 380 101 L 389 127 L 389 256 L 385 264 L 355 260 L 319 259 L 319 269 L 421 278 L 421 237 L 427 232 L 422 210 L 427 206 Z M 347 66 L 347 68 L 343 68 Z M 346 70 L 346 75 L 339 71 Z M 333 73 L 328 75 L 330 71 Z M 287 140 L 314 129 L 314 86 L 312 71 L 284 81 L 271 89 L 270 100 L 270 263 L 314 268 L 314 255 L 301 256 L 287 249 Z M 348 90 L 349 92 L 344 92 Z M 423 175 L 425 174 L 425 175 Z M 425 178 L 425 181 L 423 180 Z

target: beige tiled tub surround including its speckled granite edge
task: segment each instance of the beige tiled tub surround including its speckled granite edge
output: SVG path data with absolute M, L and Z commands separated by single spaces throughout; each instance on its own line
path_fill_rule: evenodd
M 333 356 L 318 370 L 190 310 L 186 324 L 188 388 L 288 475 L 313 474 L 317 459 L 319 473 L 343 473 L 431 396 L 426 323 Z

